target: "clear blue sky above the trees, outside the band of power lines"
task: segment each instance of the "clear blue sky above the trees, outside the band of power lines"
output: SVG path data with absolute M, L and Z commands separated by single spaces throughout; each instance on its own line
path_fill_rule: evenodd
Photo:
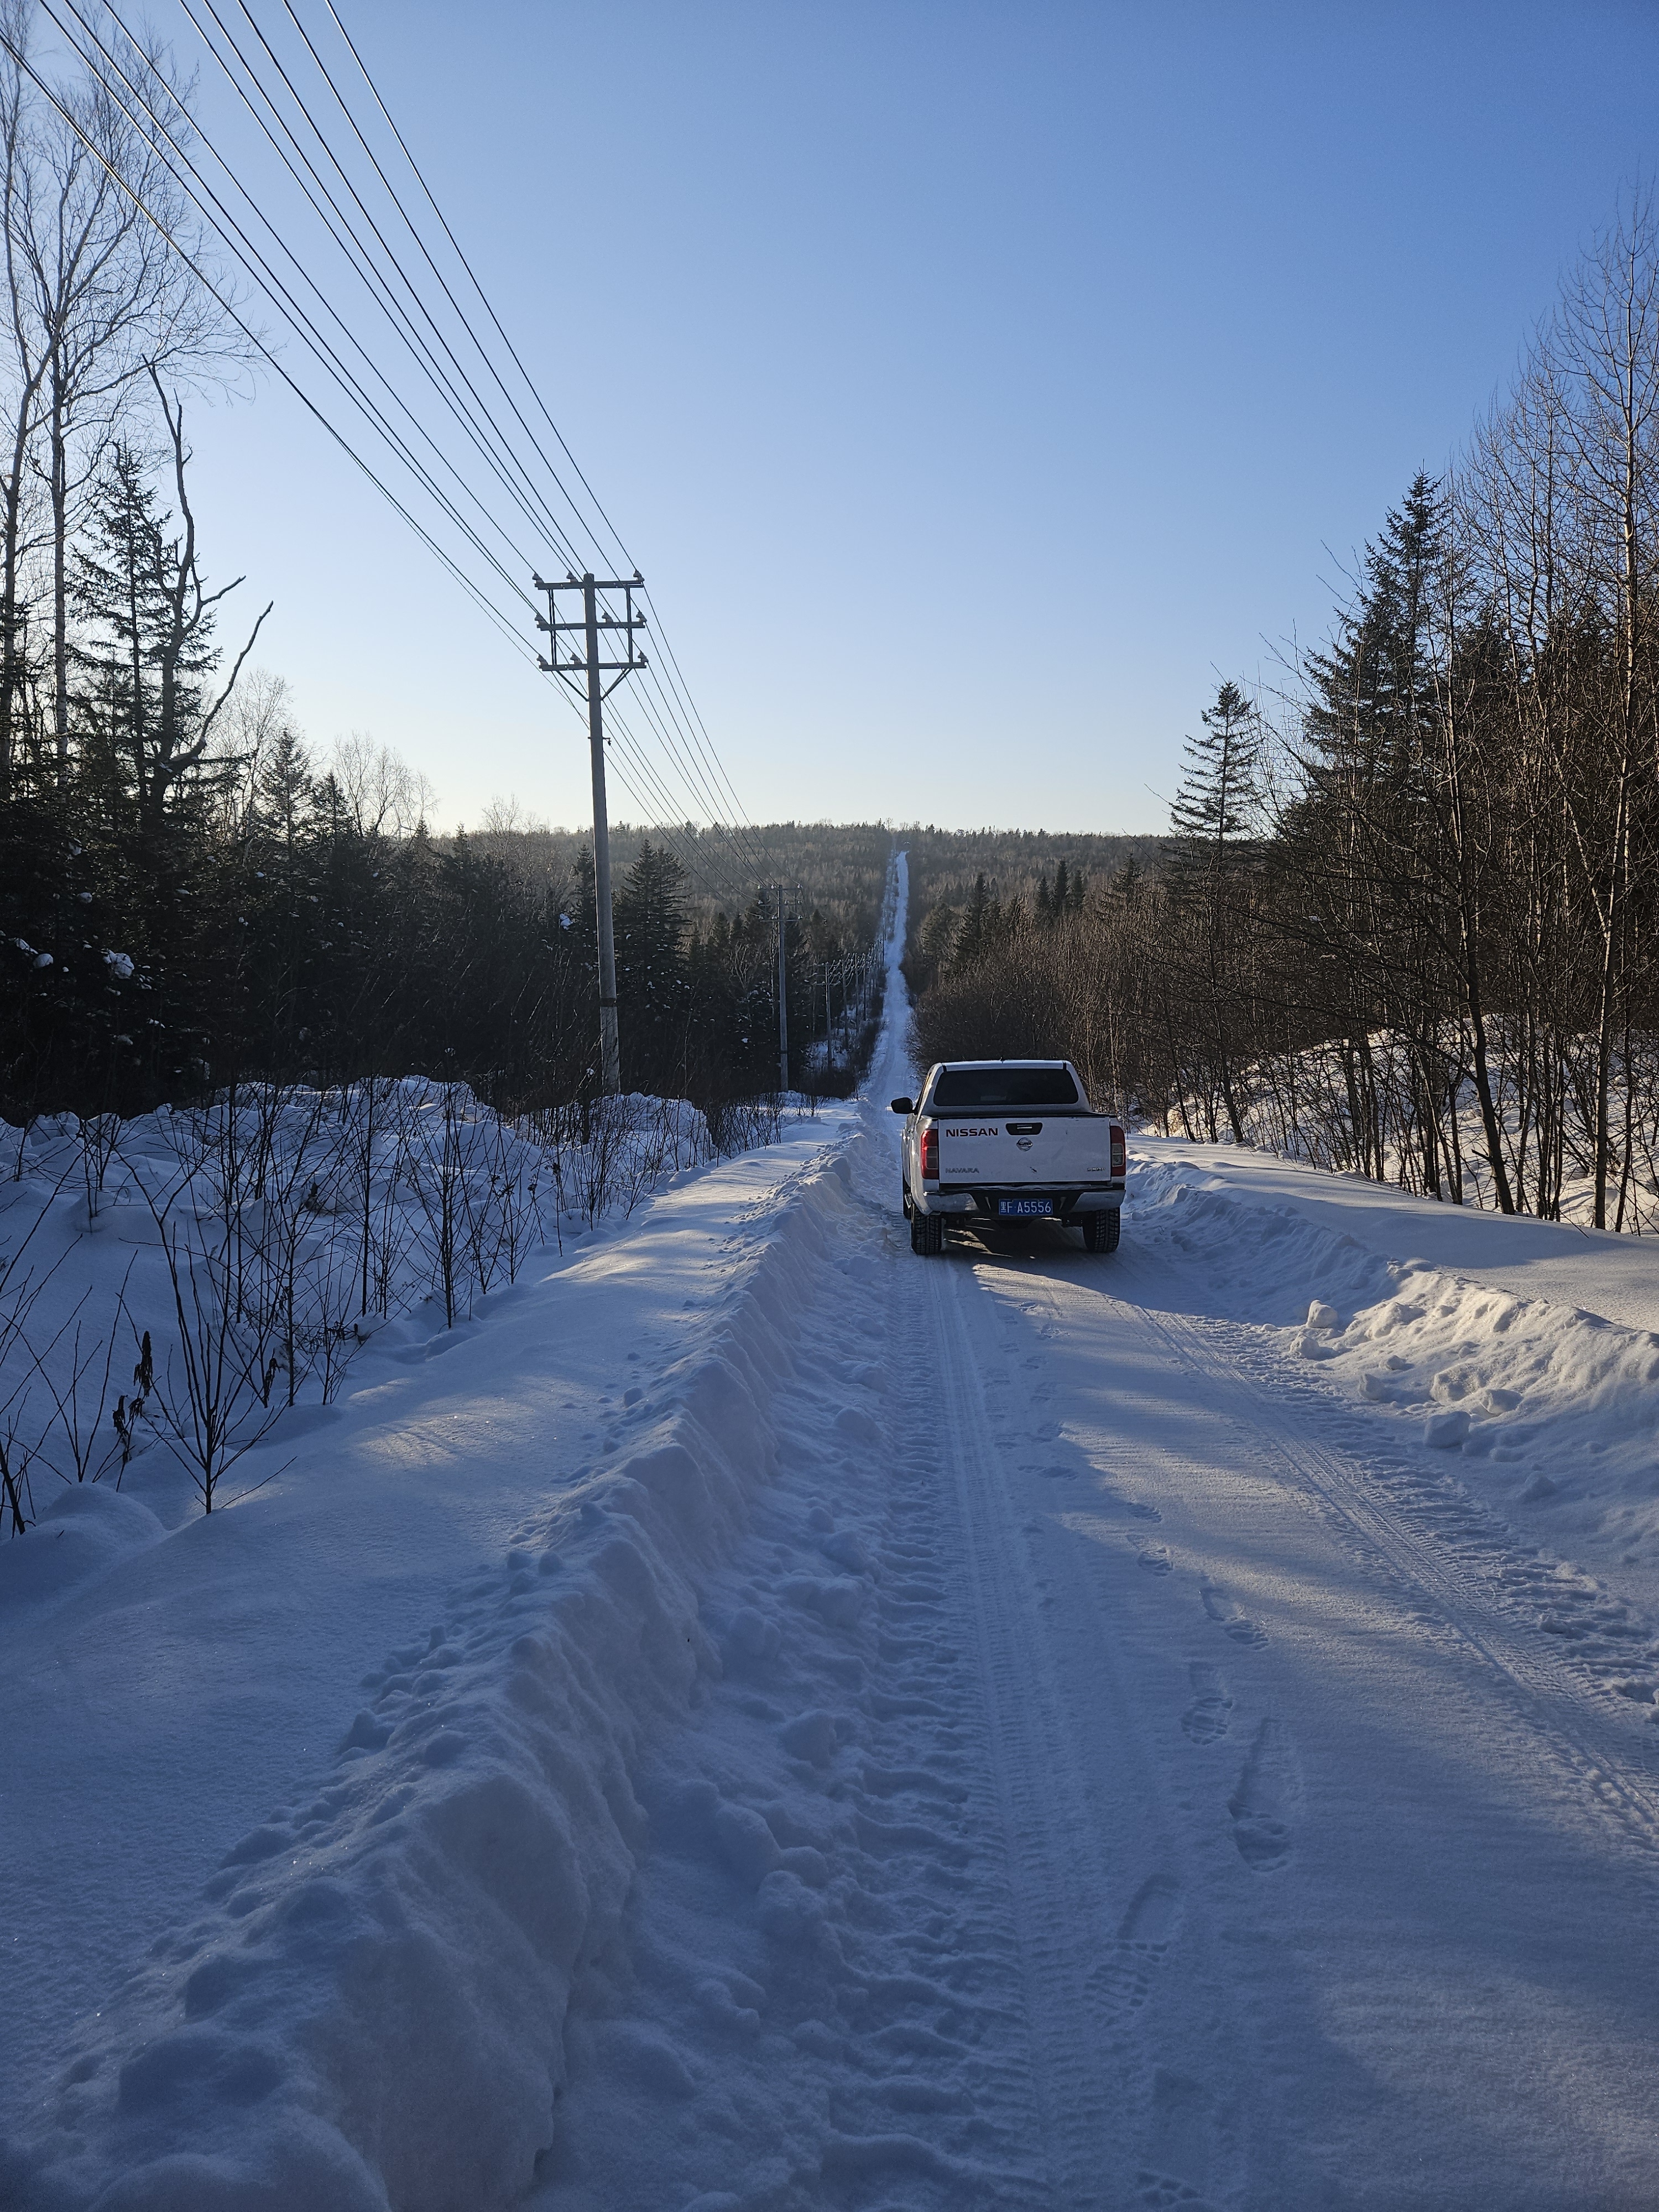
M 1659 139 L 1621 0 L 338 4 L 757 821 L 1161 827 Z M 192 427 L 307 734 L 584 821 L 573 717 L 296 405 Z

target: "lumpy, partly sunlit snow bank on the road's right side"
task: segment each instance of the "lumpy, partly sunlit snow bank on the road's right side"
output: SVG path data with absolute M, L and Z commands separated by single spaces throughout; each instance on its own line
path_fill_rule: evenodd
M 1287 1175 L 1312 1194 L 1287 1203 Z M 1360 1214 L 1345 1179 L 1239 1152 L 1217 1172 L 1175 1144 L 1137 1157 L 1133 1192 L 1135 1241 L 1201 1263 L 1217 1310 L 1279 1323 L 1310 1376 L 1367 1400 L 1535 1542 L 1659 1613 L 1659 1334 L 1511 1287 L 1537 1276 L 1595 1296 L 1606 1265 L 1617 1303 L 1639 1312 L 1632 1270 L 1652 1274 L 1659 1252 L 1374 1186 Z M 1418 1250 L 1429 1232 L 1436 1263 Z

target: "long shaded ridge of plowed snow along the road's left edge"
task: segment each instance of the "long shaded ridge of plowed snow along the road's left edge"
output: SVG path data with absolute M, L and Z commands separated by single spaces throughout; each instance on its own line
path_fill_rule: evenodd
M 549 1486 L 365 1677 L 310 1803 L 241 1836 L 82 2031 L 0 2161 L 7 2203 L 438 2212 L 531 2185 L 571 1982 L 644 1836 L 630 1774 L 719 1670 L 697 1588 L 774 1473 L 770 1387 L 852 1203 L 845 1148 L 801 1175 L 719 1325 L 628 1394 L 626 1455 Z M 137 1500 L 80 1495 L 64 1540 L 155 1542 Z

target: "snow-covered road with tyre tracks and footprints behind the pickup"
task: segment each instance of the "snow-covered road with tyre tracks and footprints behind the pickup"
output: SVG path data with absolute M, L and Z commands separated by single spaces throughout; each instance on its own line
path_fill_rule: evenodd
M 1150 1210 L 918 1261 L 856 1188 L 538 2208 L 1659 2201 L 1644 1624 Z

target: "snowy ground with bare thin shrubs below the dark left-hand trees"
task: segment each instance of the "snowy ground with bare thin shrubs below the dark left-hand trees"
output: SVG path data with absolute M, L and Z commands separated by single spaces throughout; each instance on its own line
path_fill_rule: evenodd
M 776 1141 L 785 1113 L 710 1128 L 635 1093 L 504 1119 L 465 1084 L 376 1077 L 0 1126 L 0 1526 L 157 1447 L 212 1511 L 385 1321 L 429 1303 L 453 1327 L 540 1248 Z

